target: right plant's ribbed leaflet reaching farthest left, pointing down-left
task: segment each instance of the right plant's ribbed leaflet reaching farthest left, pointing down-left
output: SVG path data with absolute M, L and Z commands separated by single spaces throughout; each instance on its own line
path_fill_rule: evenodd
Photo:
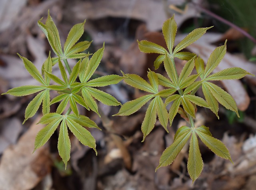
M 122 105 L 119 112 L 113 116 L 129 116 L 134 112 L 137 112 L 142 106 L 144 106 L 154 95 L 148 94 L 137 98 L 135 100 L 128 101 Z

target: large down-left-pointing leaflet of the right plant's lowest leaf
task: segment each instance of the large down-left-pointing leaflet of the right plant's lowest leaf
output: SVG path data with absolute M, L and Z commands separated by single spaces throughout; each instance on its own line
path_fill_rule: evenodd
M 162 153 L 159 160 L 159 165 L 157 166 L 156 170 L 160 167 L 172 164 L 172 162 L 175 160 L 175 158 L 177 157 L 181 149 L 184 147 L 190 136 L 191 130 L 188 130 L 184 132 L 184 134 L 176 138 L 175 141 Z

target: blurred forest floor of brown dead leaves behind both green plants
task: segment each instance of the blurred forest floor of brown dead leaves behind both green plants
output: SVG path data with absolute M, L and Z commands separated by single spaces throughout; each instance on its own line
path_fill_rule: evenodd
M 40 69 L 51 50 L 37 21 L 50 14 L 62 44 L 70 28 L 86 19 L 82 40 L 92 42 L 90 53 L 105 51 L 94 77 L 136 73 L 144 77 L 154 70 L 157 55 L 139 51 L 136 40 L 165 46 L 163 22 L 175 14 L 178 32 L 175 44 L 198 27 L 214 26 L 186 51 L 200 54 L 207 62 L 211 52 L 227 42 L 227 54 L 217 70 L 241 67 L 256 74 L 256 0 L 1 0 L 0 1 L 0 93 L 10 88 L 36 84 L 16 53 Z M 70 64 L 74 65 L 75 61 Z M 185 61 L 176 60 L 178 72 Z M 163 68 L 156 72 L 166 75 Z M 54 68 L 54 74 L 58 68 Z M 213 136 L 230 150 L 234 164 L 214 154 L 200 142 L 204 160 L 201 176 L 192 184 L 186 162 L 188 144 L 171 166 L 158 166 L 162 151 L 173 142 L 180 126 L 176 116 L 170 133 L 160 122 L 141 143 L 145 110 L 131 116 L 115 116 L 119 107 L 100 104 L 100 119 L 94 112 L 80 113 L 94 120 L 102 131 L 90 129 L 96 138 L 98 156 L 72 136 L 71 158 L 65 170 L 58 155 L 58 130 L 42 148 L 34 150 L 34 139 L 44 126 L 36 124 L 38 112 L 24 125 L 24 112 L 34 95 L 0 96 L 0 190 L 254 190 L 256 186 L 256 78 L 218 82 L 236 100 L 240 118 L 220 106 L 220 120 L 198 108 L 196 125 L 210 127 Z M 104 88 L 120 102 L 145 95 L 124 82 Z M 202 92 L 198 91 L 198 96 Z M 54 92 L 52 97 L 56 96 Z M 56 106 L 51 106 L 52 112 Z

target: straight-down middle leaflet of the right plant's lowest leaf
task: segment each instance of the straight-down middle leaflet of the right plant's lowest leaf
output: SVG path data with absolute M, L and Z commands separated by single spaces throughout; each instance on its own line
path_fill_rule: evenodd
M 200 176 L 204 162 L 200 153 L 196 132 L 192 131 L 188 152 L 188 174 L 193 182 Z

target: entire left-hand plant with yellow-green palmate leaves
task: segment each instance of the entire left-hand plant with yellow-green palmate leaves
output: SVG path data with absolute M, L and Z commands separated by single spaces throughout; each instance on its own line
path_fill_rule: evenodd
M 39 123 L 47 124 L 47 126 L 38 132 L 35 140 L 35 150 L 43 146 L 60 125 L 58 151 L 66 165 L 70 159 L 68 128 L 82 144 L 93 148 L 96 152 L 95 139 L 84 127 L 98 128 L 98 126 L 88 117 L 79 114 L 77 104 L 96 112 L 99 116 L 100 114 L 98 112 L 96 100 L 110 106 L 121 105 L 116 98 L 95 87 L 117 84 L 123 77 L 112 74 L 90 80 L 101 62 L 104 52 L 104 44 L 102 48 L 92 54 L 90 59 L 88 57 L 90 54 L 85 54 L 83 52 L 91 44 L 91 42 L 88 41 L 78 42 L 84 32 L 85 21 L 76 24 L 71 28 L 62 50 L 58 30 L 49 12 L 46 23 L 43 24 L 41 20 L 42 19 L 38 21 L 38 26 L 46 35 L 50 46 L 57 57 L 52 58 L 49 52 L 48 58 L 45 60 L 44 64 L 42 64 L 42 72 L 40 73 L 30 60 L 19 55 L 26 70 L 35 80 L 40 82 L 41 85 L 20 86 L 12 88 L 4 94 L 26 96 L 39 92 L 28 104 L 25 111 L 24 122 L 28 120 L 28 118 L 34 116 L 42 104 L 43 116 Z M 67 58 L 79 59 L 72 70 L 68 65 Z M 66 68 L 62 61 L 64 61 Z M 58 78 L 56 75 L 52 74 L 52 67 L 56 63 L 58 63 L 62 78 Z M 66 69 L 68 70 L 68 74 Z M 80 82 L 76 81 L 76 78 L 78 77 Z M 52 82 L 55 84 L 52 84 Z M 59 94 L 52 98 L 52 100 L 50 100 L 51 90 L 55 90 Z M 50 106 L 57 102 L 60 102 L 60 104 L 58 105 L 56 112 L 50 113 Z M 66 114 L 62 114 L 65 110 Z M 71 111 L 74 114 L 70 114 Z

